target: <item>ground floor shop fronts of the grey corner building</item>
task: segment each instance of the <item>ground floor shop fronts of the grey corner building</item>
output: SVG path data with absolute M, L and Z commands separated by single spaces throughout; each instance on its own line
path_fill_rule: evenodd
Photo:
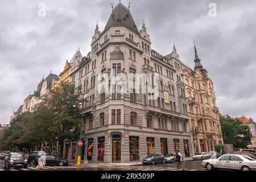
M 192 155 L 190 136 L 113 132 L 85 138 L 84 158 L 89 162 L 135 162 L 148 154 L 172 154 L 179 150 L 184 158 Z

